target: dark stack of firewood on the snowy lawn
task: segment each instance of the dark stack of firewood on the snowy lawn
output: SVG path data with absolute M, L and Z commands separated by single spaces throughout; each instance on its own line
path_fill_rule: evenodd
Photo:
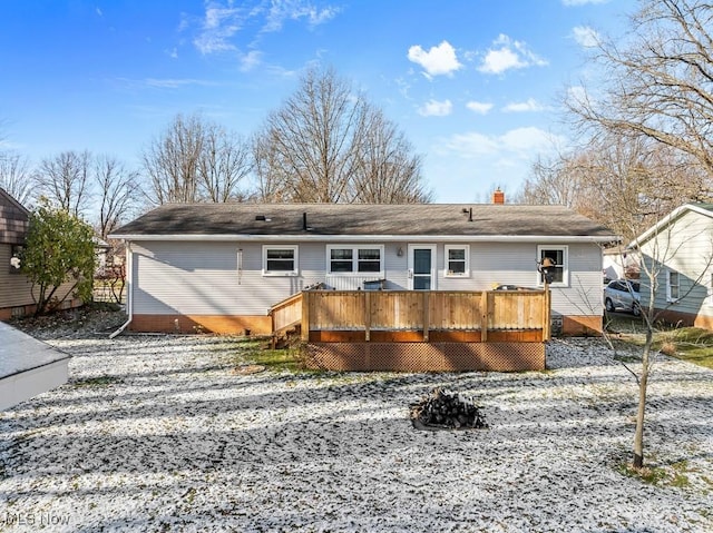
M 480 408 L 471 398 L 442 388 L 434 388 L 419 403 L 412 404 L 411 420 L 416 427 L 488 427 Z

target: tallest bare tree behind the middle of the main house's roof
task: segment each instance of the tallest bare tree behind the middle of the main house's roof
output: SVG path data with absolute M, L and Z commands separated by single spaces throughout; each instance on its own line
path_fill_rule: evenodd
M 312 69 L 254 141 L 258 195 L 264 201 L 427 201 L 410 148 L 348 80 Z

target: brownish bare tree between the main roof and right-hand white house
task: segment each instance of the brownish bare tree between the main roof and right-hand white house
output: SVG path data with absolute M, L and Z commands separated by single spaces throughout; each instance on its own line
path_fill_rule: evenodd
M 533 166 L 517 200 L 558 204 L 627 241 L 665 214 L 706 196 L 707 176 L 690 156 L 643 137 L 600 135 L 582 150 Z

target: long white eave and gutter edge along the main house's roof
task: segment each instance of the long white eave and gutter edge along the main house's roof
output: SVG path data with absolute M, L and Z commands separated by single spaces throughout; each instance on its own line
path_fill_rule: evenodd
M 140 241 L 371 241 L 379 240 L 382 243 L 613 243 L 619 241 L 621 237 L 616 235 L 322 235 L 310 234 L 303 235 L 282 234 L 282 235 L 253 235 L 253 234 L 217 234 L 217 235 L 131 235 L 116 234 L 110 238 L 123 239 L 133 243 Z

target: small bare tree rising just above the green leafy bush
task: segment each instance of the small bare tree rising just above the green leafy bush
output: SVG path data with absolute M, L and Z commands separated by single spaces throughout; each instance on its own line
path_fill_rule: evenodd
M 42 159 L 33 179 L 40 195 L 72 216 L 84 215 L 91 200 L 90 159 L 86 150 Z

